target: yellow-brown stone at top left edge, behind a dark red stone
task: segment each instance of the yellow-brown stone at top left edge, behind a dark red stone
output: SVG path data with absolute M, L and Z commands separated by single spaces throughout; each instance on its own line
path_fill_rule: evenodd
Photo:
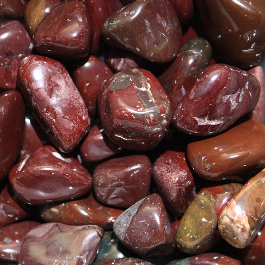
M 25 10 L 25 24 L 30 36 L 41 20 L 58 4 L 60 0 L 30 0 Z

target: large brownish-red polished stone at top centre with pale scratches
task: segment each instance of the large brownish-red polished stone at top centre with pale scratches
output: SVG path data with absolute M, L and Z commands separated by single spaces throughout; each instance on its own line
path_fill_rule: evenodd
M 110 46 L 163 63 L 176 57 L 182 31 L 169 1 L 136 0 L 108 17 L 102 37 Z

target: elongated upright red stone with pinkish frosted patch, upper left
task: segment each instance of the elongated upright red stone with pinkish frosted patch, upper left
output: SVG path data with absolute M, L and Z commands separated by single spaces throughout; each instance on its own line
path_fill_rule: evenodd
M 88 131 L 88 110 L 73 80 L 58 61 L 30 55 L 21 62 L 18 85 L 51 141 L 72 151 Z

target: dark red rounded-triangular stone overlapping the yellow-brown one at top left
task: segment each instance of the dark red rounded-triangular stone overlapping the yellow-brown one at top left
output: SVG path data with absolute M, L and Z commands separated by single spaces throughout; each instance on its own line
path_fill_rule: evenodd
M 93 33 L 88 8 L 80 1 L 64 1 L 49 12 L 33 34 L 39 53 L 61 58 L 86 57 Z

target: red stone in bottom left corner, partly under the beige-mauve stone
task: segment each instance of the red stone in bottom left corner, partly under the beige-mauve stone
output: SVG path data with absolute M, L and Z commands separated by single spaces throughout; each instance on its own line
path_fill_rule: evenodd
M 23 221 L 0 228 L 0 262 L 17 262 L 24 237 L 39 224 L 34 221 Z

